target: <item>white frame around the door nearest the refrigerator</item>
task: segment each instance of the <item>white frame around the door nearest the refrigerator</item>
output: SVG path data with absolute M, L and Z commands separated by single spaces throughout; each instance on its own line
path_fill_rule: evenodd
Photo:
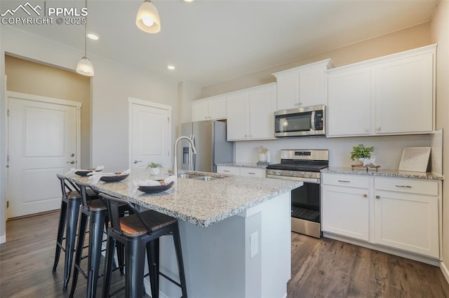
M 153 101 L 146 101 L 143 99 L 135 99 L 133 97 L 128 97 L 128 167 L 129 169 L 133 168 L 133 105 L 139 105 L 139 106 L 148 106 L 150 108 L 161 108 L 162 110 L 168 111 L 169 115 L 168 118 L 170 119 L 170 129 L 168 129 L 168 162 L 172 159 L 172 150 L 171 150 L 171 133 L 173 127 L 172 125 L 172 119 L 171 119 L 171 112 L 172 112 L 172 106 L 168 106 L 166 104 L 159 104 L 157 102 Z

